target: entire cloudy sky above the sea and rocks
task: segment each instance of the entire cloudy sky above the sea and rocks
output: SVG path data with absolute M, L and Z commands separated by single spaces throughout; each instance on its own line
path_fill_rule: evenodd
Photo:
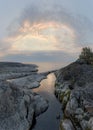
M 0 61 L 64 62 L 93 49 L 93 0 L 0 0 Z

